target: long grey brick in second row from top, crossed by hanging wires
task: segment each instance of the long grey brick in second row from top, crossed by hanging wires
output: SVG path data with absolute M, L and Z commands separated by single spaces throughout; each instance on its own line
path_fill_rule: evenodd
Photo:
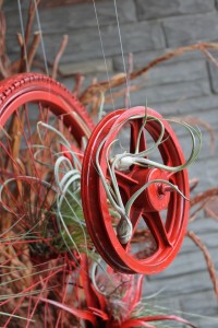
M 143 49 L 154 50 L 165 46 L 162 31 L 158 23 L 125 24 L 121 26 L 121 34 L 124 52 Z M 106 56 L 121 52 L 117 26 L 102 27 L 101 35 Z M 61 42 L 61 35 L 52 34 L 51 36 L 45 33 L 44 40 L 49 58 L 53 57 Z M 69 46 L 64 51 L 62 61 L 73 62 L 94 58 L 102 58 L 97 28 L 69 31 Z

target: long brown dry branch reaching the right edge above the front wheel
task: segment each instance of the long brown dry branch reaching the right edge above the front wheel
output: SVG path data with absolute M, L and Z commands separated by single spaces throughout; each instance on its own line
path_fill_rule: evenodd
M 191 45 L 191 46 L 177 48 L 173 51 L 170 51 L 170 52 L 168 52 L 164 56 L 160 56 L 160 57 L 152 60 L 146 67 L 144 67 L 144 68 L 137 70 L 137 71 L 132 72 L 130 74 L 130 80 L 133 80 L 133 79 L 136 79 L 136 78 L 141 77 L 142 74 L 146 73 L 149 69 L 152 69 L 153 67 L 159 65 L 162 61 L 169 60 L 173 57 L 180 56 L 180 55 L 182 55 L 184 52 L 187 52 L 187 51 L 194 51 L 194 50 L 203 51 L 204 49 L 207 49 L 207 48 L 218 50 L 218 43 L 197 43 L 197 44 L 194 44 L 194 45 Z M 126 81 L 125 79 L 126 79 L 125 74 L 122 74 L 117 79 L 111 79 L 110 87 L 116 87 L 116 86 L 122 85 L 123 83 L 125 83 L 125 81 Z M 84 105 L 88 104 L 90 102 L 90 98 L 96 93 L 98 93 L 99 90 L 101 90 L 101 92 L 107 91 L 108 90 L 108 81 L 102 81 L 100 83 L 96 83 L 95 85 L 88 86 L 83 92 L 83 94 L 81 95 L 81 98 L 80 98 L 81 102 Z

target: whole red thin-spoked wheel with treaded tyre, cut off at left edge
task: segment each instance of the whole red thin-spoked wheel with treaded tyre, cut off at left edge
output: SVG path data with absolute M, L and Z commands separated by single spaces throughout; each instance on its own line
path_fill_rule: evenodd
M 57 133 L 46 128 L 39 138 L 39 121 L 60 131 L 78 153 L 83 138 L 88 139 L 94 128 L 83 105 L 49 77 L 24 73 L 0 83 L 0 210 L 4 237 L 37 231 L 56 199 L 51 187 L 53 165 L 64 148 L 56 142 Z M 47 221 L 45 229 L 53 236 L 56 224 Z M 40 235 L 44 237 L 48 233 Z

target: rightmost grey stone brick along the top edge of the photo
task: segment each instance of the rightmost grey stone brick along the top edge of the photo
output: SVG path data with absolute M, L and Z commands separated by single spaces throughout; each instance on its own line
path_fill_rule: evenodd
M 140 20 L 159 19 L 215 10 L 214 0 L 136 0 Z

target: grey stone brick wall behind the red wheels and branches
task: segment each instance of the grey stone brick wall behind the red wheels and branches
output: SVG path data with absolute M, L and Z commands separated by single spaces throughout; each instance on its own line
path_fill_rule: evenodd
M 113 1 L 96 1 L 98 21 L 107 60 L 109 77 L 123 72 L 123 60 L 118 34 Z M 26 21 L 28 1 L 22 1 Z M 218 1 L 216 0 L 117 0 L 125 65 L 133 54 L 134 69 L 143 68 L 150 60 L 173 48 L 198 42 L 218 42 Z M 4 1 L 8 22 L 8 50 L 17 56 L 15 33 L 21 31 L 16 1 Z M 65 73 L 82 72 L 84 87 L 94 77 L 106 80 L 106 67 L 92 3 L 63 5 L 39 10 L 48 61 L 53 60 L 62 35 L 69 35 L 69 45 L 61 59 L 60 69 Z M 218 51 L 211 52 L 217 59 Z M 39 51 L 39 56 L 41 52 Z M 63 79 L 72 89 L 72 79 Z M 131 104 L 147 105 L 167 116 L 189 115 L 204 120 L 218 131 L 218 67 L 201 51 L 186 52 L 164 62 L 132 85 L 140 84 L 131 93 Z M 114 99 L 116 108 L 123 107 L 123 98 Z M 111 104 L 106 110 L 111 110 Z M 203 150 L 198 161 L 190 168 L 190 177 L 199 178 L 197 191 L 217 187 L 218 147 L 210 151 L 210 136 L 202 127 Z M 179 132 L 184 151 L 189 138 Z M 202 215 L 191 225 L 214 255 L 218 269 L 218 224 Z M 147 278 L 145 295 L 164 289 L 152 302 L 186 313 L 210 316 L 192 317 L 198 327 L 218 327 L 218 309 L 209 274 L 202 254 L 186 239 L 174 263 L 164 273 Z M 172 311 L 171 311 L 172 312 Z

